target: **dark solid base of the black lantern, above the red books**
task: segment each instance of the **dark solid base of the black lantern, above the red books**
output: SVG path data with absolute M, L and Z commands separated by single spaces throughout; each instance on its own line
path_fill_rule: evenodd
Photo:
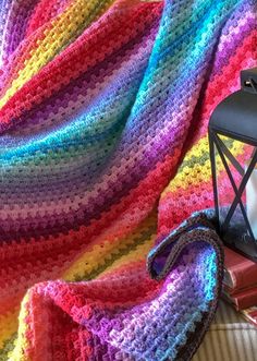
M 257 240 L 252 239 L 245 227 L 230 227 L 220 237 L 225 245 L 257 263 Z

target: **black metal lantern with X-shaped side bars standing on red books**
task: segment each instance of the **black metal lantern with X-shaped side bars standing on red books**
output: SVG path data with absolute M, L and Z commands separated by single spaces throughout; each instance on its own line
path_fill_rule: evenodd
M 209 146 L 220 236 L 257 262 L 257 68 L 212 112 Z

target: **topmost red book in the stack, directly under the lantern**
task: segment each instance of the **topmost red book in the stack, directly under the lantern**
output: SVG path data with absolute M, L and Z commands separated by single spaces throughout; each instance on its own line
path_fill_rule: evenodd
M 257 285 L 257 264 L 224 246 L 223 284 L 231 291 L 240 291 Z

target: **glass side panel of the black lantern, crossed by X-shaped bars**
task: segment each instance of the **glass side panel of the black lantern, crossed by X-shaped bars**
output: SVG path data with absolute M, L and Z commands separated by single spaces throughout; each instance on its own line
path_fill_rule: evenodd
M 220 233 L 227 243 L 236 244 L 243 252 L 249 242 L 257 239 L 257 170 L 242 186 L 254 151 L 252 145 L 216 134 Z

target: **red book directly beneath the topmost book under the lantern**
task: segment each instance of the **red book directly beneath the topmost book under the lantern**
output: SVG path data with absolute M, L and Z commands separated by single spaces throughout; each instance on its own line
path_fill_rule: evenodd
M 257 287 L 242 290 L 231 294 L 225 290 L 222 291 L 223 298 L 232 303 L 236 311 L 245 310 L 257 304 Z

